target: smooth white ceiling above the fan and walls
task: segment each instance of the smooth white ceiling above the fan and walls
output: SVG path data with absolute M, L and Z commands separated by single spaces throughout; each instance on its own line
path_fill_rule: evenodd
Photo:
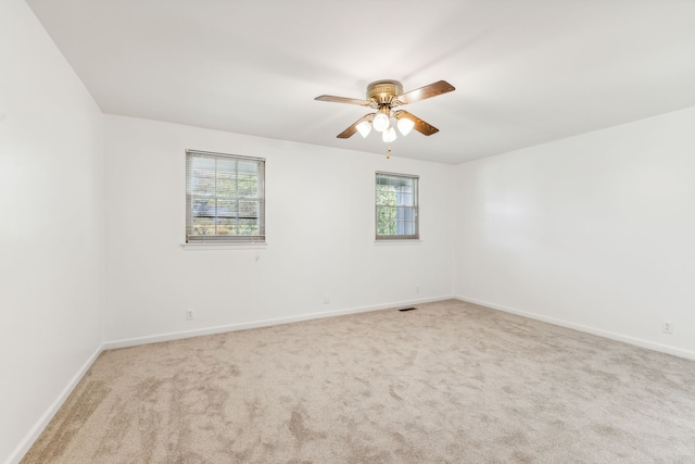
M 27 0 L 104 113 L 374 153 L 364 99 L 440 129 L 393 156 L 458 164 L 695 106 L 693 0 Z

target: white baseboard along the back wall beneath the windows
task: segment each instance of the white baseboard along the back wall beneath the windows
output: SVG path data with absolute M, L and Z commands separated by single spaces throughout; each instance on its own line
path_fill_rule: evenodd
M 273 319 L 253 321 L 253 322 L 249 322 L 249 323 L 229 324 L 229 325 L 207 327 L 207 328 L 194 329 L 194 330 L 182 330 L 182 331 L 175 331 L 175 333 L 169 333 L 169 334 L 160 334 L 160 335 L 153 335 L 153 336 L 147 336 L 147 337 L 127 338 L 127 339 L 122 339 L 122 340 L 113 340 L 113 341 L 104 342 L 103 349 L 104 350 L 113 350 L 113 349 L 116 349 L 116 348 L 136 347 L 138 344 L 157 343 L 157 342 L 161 342 L 161 341 L 178 340 L 178 339 L 181 339 L 181 338 L 199 337 L 199 336 L 202 336 L 202 335 L 224 334 L 224 333 L 227 333 L 227 331 L 245 330 L 245 329 L 257 328 L 257 327 L 268 327 L 268 326 L 280 325 L 280 324 L 289 324 L 289 323 L 296 323 L 296 322 L 302 322 L 302 321 L 318 319 L 318 318 L 323 318 L 323 317 L 342 316 L 344 314 L 366 313 L 366 312 L 369 312 L 369 311 L 379 311 L 379 310 L 388 310 L 388 309 L 392 309 L 392 308 L 412 306 L 414 304 L 431 303 L 433 301 L 452 300 L 454 298 L 455 298 L 454 296 L 450 294 L 450 296 L 445 296 L 445 297 L 425 298 L 425 299 L 419 299 L 419 300 L 396 301 L 396 302 L 391 302 L 391 303 L 375 304 L 375 305 L 370 305 L 370 306 L 350 308 L 350 309 L 334 310 L 334 311 L 323 311 L 323 312 L 319 312 L 319 313 L 306 313 L 306 314 L 299 314 L 299 315 L 295 315 L 295 316 L 278 317 L 278 318 L 273 318 Z

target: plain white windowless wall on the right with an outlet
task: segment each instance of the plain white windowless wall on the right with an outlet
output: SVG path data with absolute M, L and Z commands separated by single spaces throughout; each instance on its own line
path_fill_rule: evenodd
M 695 108 L 459 165 L 455 292 L 695 358 L 694 176 Z

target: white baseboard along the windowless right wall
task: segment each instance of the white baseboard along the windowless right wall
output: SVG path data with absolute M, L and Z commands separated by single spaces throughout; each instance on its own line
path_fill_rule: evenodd
M 542 314 L 531 313 L 529 311 L 517 310 L 516 308 L 505 306 L 503 304 L 491 303 L 490 301 L 482 301 L 476 298 L 468 298 L 463 296 L 455 296 L 456 300 L 460 300 L 468 303 L 479 304 L 481 306 L 486 306 L 493 310 L 504 311 L 505 313 L 517 314 L 519 316 L 528 317 L 535 321 L 541 321 L 544 323 L 557 325 L 560 327 L 567 327 L 579 331 L 584 331 L 586 334 L 597 335 L 599 337 L 609 338 L 611 340 L 622 341 L 624 343 L 634 344 L 636 347 L 646 348 L 654 351 L 659 351 L 661 353 L 673 354 L 674 356 L 685 358 L 688 360 L 695 360 L 695 351 L 683 350 L 675 347 L 669 347 L 668 344 L 661 344 L 649 340 L 643 340 L 641 338 L 630 337 L 628 335 L 617 334 L 614 331 L 608 331 L 604 329 L 599 329 L 596 327 L 590 327 L 581 324 L 576 324 L 569 321 L 557 319 L 555 317 L 547 317 Z

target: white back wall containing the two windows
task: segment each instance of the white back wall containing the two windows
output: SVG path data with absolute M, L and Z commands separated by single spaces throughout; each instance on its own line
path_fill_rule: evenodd
M 186 149 L 266 159 L 265 249 L 181 248 Z M 452 296 L 451 166 L 111 115 L 105 152 L 110 346 Z M 420 243 L 375 244 L 378 170 L 420 176 Z

